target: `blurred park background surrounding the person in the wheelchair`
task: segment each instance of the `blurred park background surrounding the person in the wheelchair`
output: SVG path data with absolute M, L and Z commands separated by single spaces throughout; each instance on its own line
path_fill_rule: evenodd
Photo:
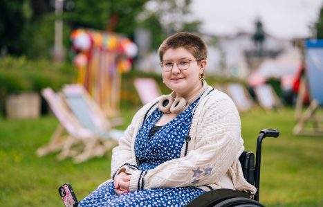
M 261 203 L 323 206 L 323 0 L 1 0 L 0 206 L 62 206 L 64 183 L 81 200 L 109 179 L 122 130 L 171 92 L 158 48 L 182 31 L 207 43 L 246 150 L 281 132 L 264 140 Z

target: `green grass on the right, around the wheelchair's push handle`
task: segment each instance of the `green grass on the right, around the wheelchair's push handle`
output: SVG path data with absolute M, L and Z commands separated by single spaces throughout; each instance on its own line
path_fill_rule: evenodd
M 323 206 L 323 137 L 293 136 L 293 116 L 293 109 L 241 114 L 247 151 L 255 152 L 259 129 L 280 132 L 262 144 L 260 201 L 268 206 Z

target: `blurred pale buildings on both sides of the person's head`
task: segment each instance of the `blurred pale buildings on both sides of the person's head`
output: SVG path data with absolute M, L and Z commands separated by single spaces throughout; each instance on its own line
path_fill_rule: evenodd
M 135 42 L 139 48 L 136 68 L 141 71 L 151 73 L 161 73 L 159 65 L 158 51 L 149 51 L 149 30 L 139 29 L 135 33 Z M 264 33 L 264 40 L 261 48 L 257 46 L 252 37 L 253 33 L 237 33 L 227 37 L 214 37 L 203 34 L 202 38 L 207 42 L 208 55 L 205 73 L 210 75 L 220 75 L 225 78 L 237 77 L 245 80 L 252 73 L 257 71 L 261 64 L 261 71 L 273 69 L 273 64 L 268 64 L 275 60 L 277 65 L 287 65 L 276 68 L 279 74 L 276 78 L 281 78 L 285 73 L 295 73 L 296 65 L 300 62 L 299 49 L 293 44 L 293 39 L 277 39 Z M 216 44 L 210 40 L 216 38 Z M 268 71 L 265 72 L 269 73 Z M 267 75 L 266 78 L 270 78 Z

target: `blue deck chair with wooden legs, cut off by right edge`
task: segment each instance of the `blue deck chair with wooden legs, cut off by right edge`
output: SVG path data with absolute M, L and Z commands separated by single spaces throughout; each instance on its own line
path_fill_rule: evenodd
M 301 114 L 293 129 L 295 135 L 323 136 L 323 116 L 315 114 L 318 107 L 323 106 L 323 39 L 306 40 L 304 48 L 305 76 L 301 79 L 301 89 L 297 102 L 297 108 L 302 110 L 305 87 L 309 89 L 311 103 Z M 295 111 L 297 111 L 297 108 Z M 300 114 L 300 112 L 299 112 Z M 306 127 L 306 123 L 313 123 L 313 127 Z

